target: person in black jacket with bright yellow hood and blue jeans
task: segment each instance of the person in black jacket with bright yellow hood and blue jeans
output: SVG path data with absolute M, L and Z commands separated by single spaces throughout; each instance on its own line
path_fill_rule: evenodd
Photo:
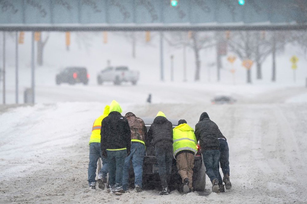
M 109 192 L 121 195 L 122 171 L 125 158 L 130 154 L 131 132 L 127 119 L 120 113 L 122 108 L 115 100 L 110 113 L 101 122 L 101 151 L 109 163 Z

